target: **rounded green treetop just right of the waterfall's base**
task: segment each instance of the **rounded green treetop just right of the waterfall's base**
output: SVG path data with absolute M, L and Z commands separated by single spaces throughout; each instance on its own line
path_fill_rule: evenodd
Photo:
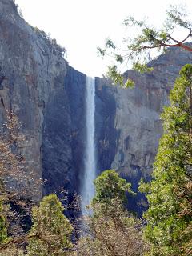
M 126 179 L 120 178 L 115 170 L 105 170 L 94 181 L 95 196 L 92 204 L 101 203 L 110 205 L 111 200 L 118 198 L 122 203 L 126 203 L 126 192 L 134 194 L 130 190 L 130 183 Z

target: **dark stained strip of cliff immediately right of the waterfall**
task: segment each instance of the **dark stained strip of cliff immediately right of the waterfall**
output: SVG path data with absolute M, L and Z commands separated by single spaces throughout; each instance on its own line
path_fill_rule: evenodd
M 95 99 L 95 141 L 98 174 L 102 170 L 110 169 L 116 154 L 119 131 L 114 126 L 117 102 L 116 86 L 105 79 L 96 78 Z

